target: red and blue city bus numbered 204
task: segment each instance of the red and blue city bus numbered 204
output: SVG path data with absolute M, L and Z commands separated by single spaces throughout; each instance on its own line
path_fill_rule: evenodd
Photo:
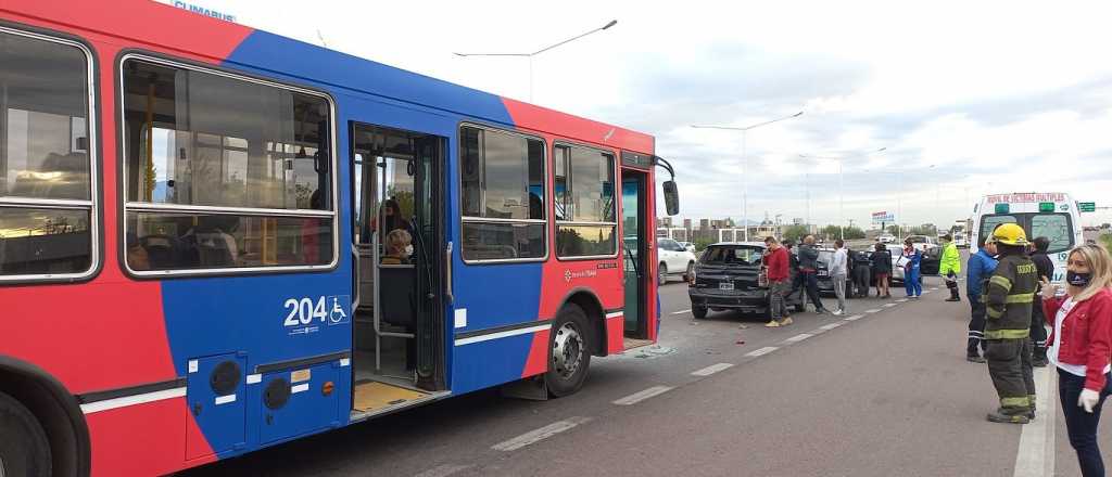
M 656 341 L 654 145 L 146 0 L 3 2 L 0 475 L 575 393 Z

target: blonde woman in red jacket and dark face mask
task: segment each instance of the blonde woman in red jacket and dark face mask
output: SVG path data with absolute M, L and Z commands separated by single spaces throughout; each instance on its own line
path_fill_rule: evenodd
M 1112 393 L 1109 372 L 1112 353 L 1112 258 L 1100 245 L 1070 251 L 1065 296 L 1042 277 L 1043 311 L 1054 327 L 1046 357 L 1058 367 L 1059 396 L 1078 451 L 1081 474 L 1103 476 L 1104 463 L 1096 446 L 1101 405 Z

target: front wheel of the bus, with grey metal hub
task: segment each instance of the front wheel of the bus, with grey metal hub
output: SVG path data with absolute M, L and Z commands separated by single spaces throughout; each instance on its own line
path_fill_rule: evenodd
M 579 305 L 568 303 L 556 314 L 548 337 L 548 372 L 545 382 L 554 397 L 575 394 L 590 367 L 590 325 Z

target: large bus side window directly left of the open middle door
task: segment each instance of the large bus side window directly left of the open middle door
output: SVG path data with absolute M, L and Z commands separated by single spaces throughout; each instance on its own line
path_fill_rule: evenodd
M 153 59 L 122 71 L 125 246 L 147 253 L 132 271 L 335 260 L 326 97 Z

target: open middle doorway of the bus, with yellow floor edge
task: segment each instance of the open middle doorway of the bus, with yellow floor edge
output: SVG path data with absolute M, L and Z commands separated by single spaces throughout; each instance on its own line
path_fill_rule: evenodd
M 351 124 L 353 413 L 368 417 L 447 393 L 441 136 Z

